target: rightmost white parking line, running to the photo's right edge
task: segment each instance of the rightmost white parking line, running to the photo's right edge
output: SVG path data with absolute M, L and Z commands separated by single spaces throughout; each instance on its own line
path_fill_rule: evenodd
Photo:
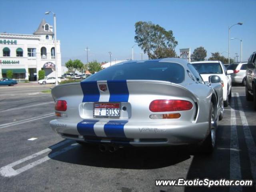
M 239 110 L 239 113 L 241 116 L 244 137 L 245 137 L 248 154 L 249 154 L 249 158 L 250 158 L 252 178 L 254 181 L 256 181 L 256 146 L 255 146 L 255 142 L 252 137 L 252 133 L 250 131 L 250 127 L 248 125 L 246 116 L 244 114 L 242 102 L 241 102 L 241 99 L 240 99 L 238 93 L 236 93 L 236 98 L 238 99 L 238 110 Z

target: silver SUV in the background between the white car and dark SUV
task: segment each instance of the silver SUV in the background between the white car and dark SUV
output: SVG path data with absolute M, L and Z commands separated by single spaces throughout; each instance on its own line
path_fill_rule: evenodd
M 234 70 L 231 74 L 232 84 L 243 84 L 245 86 L 245 74 L 247 62 L 232 63 L 227 67 L 227 70 Z

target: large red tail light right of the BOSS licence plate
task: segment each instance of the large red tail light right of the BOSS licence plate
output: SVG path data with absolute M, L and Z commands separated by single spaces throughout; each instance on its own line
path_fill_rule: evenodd
M 154 100 L 149 105 L 152 112 L 186 111 L 192 109 L 193 104 L 184 100 Z

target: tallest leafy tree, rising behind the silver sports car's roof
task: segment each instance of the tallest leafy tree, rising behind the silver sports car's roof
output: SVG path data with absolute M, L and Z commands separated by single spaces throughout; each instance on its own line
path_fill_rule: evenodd
M 175 40 L 172 30 L 166 31 L 158 24 L 136 22 L 134 40 L 150 59 L 176 56 L 174 49 L 178 42 Z

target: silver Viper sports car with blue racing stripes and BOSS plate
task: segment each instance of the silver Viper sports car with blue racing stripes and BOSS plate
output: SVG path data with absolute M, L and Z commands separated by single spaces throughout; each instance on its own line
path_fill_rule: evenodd
M 223 117 L 218 76 L 205 84 L 186 60 L 129 61 L 52 89 L 51 128 L 101 151 L 123 146 L 198 144 L 210 153 Z

